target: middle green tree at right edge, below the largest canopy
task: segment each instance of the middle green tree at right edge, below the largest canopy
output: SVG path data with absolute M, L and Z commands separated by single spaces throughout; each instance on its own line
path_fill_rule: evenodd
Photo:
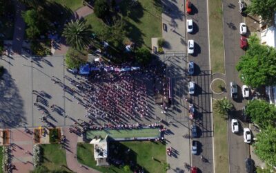
M 265 100 L 251 100 L 248 102 L 246 115 L 259 127 L 266 128 L 268 125 L 275 127 L 276 107 Z

